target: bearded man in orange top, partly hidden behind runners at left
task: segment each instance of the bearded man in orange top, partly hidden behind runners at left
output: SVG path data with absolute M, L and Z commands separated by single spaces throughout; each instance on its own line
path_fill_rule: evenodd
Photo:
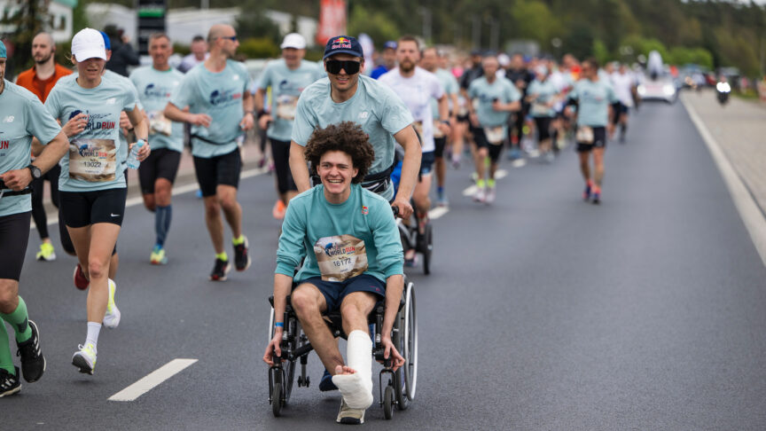
M 56 63 L 53 54 L 56 53 L 56 44 L 48 33 L 38 33 L 32 39 L 32 58 L 35 59 L 35 66 L 25 70 L 16 78 L 16 84 L 20 87 L 32 91 L 41 102 L 45 103 L 48 93 L 59 78 L 71 74 L 72 71 Z M 51 238 L 48 235 L 48 218 L 45 215 L 43 207 L 43 189 L 45 180 L 51 183 L 51 202 L 56 208 L 59 208 L 59 175 L 61 168 L 59 165 L 53 166 L 51 170 L 45 172 L 40 178 L 32 181 L 32 218 L 35 220 L 37 232 L 40 233 L 40 251 L 37 253 L 38 261 L 53 261 L 56 259 L 56 252 L 51 244 Z

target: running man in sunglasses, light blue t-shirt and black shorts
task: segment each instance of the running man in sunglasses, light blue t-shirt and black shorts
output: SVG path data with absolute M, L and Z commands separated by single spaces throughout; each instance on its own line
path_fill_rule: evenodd
M 231 270 L 223 248 L 223 218 L 232 233 L 234 265 L 238 271 L 251 263 L 242 233 L 242 207 L 237 200 L 242 158 L 238 139 L 254 125 L 254 98 L 245 65 L 234 61 L 239 46 L 234 27 L 216 24 L 207 34 L 210 57 L 184 76 L 165 107 L 165 118 L 191 126 L 191 155 L 199 189 L 205 200 L 207 231 L 215 248 L 214 281 L 226 280 Z M 182 109 L 189 106 L 189 111 Z

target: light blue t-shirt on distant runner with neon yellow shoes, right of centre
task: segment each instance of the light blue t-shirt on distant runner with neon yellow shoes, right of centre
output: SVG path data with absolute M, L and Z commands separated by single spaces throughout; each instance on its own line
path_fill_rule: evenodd
M 500 103 L 507 104 L 521 98 L 521 93 L 516 90 L 516 86 L 511 81 L 498 76 L 490 84 L 486 77 L 481 76 L 471 82 L 471 86 L 468 87 L 468 97 L 478 101 L 478 104 L 474 106 L 476 106 L 476 116 L 479 117 L 481 127 L 496 128 L 502 126 L 504 135 L 507 134 L 505 129 L 508 127 L 508 117 L 511 113 L 496 111 L 492 109 L 492 104 L 495 99 Z

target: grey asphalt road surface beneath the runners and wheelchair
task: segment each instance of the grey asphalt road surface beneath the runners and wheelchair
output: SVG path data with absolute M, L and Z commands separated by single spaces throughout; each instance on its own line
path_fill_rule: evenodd
M 683 106 L 647 104 L 632 121 L 628 144 L 606 152 L 600 206 L 582 202 L 571 148 L 552 165 L 504 161 L 492 207 L 462 195 L 467 165 L 449 170 L 433 274 L 408 270 L 417 398 L 391 422 L 373 406 L 363 427 L 766 427 L 766 269 Z M 174 198 L 167 267 L 148 264 L 152 215 L 128 209 L 122 321 L 102 331 L 94 376 L 70 364 L 86 329 L 74 258 L 35 262 L 33 231 L 20 291 L 48 369 L 0 401 L 0 429 L 337 427 L 340 396 L 318 391 L 314 355 L 312 386 L 271 416 L 260 357 L 279 226 L 272 182 L 240 185 L 254 264 L 225 283 L 207 281 L 213 252 L 193 193 Z M 176 358 L 198 362 L 136 401 L 107 401 Z

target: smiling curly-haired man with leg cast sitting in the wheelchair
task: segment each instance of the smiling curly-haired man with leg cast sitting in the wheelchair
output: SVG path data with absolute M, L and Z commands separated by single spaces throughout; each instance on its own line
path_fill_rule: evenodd
M 372 404 L 372 341 L 368 315 L 385 301 L 381 343 L 396 370 L 404 358 L 391 340 L 403 291 L 403 250 L 387 200 L 360 183 L 374 159 L 363 129 L 350 121 L 317 129 L 305 149 L 322 184 L 290 201 L 282 225 L 274 276 L 274 336 L 263 360 L 281 355 L 287 296 L 304 333 L 342 402 L 338 422 L 363 423 Z M 301 270 L 293 274 L 301 260 Z M 323 313 L 340 310 L 348 334 L 344 363 Z

